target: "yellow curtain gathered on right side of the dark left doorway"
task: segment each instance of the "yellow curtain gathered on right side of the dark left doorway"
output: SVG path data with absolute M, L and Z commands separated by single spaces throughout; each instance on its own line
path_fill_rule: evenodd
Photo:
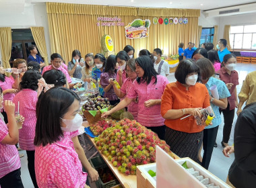
M 41 56 L 44 58 L 44 63 L 46 65 L 48 62 L 48 54 L 46 50 L 45 38 L 44 38 L 44 28 L 43 27 L 31 27 L 30 28 L 34 41 L 36 42 L 36 46 L 40 51 Z

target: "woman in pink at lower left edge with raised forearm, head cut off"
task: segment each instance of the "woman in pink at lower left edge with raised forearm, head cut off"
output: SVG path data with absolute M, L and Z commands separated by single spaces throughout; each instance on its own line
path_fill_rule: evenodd
M 3 93 L 0 87 L 0 107 L 2 107 Z M 0 187 L 24 188 L 20 177 L 20 157 L 15 144 L 19 140 L 18 126 L 15 120 L 15 105 L 5 100 L 5 111 L 8 124 L 0 118 Z

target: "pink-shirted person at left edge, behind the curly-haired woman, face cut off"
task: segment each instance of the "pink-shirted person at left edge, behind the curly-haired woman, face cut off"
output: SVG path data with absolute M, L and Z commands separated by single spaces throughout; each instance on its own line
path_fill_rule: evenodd
M 7 77 L 4 73 L 0 73 L 0 87 L 3 89 L 3 101 L 9 100 L 12 101 L 15 93 L 18 91 L 20 76 L 19 73 L 13 74 L 15 79 L 11 79 L 11 77 Z M 8 123 L 7 114 L 5 113 L 5 105 L 3 105 L 3 109 L 1 109 L 1 113 L 3 115 L 5 124 Z

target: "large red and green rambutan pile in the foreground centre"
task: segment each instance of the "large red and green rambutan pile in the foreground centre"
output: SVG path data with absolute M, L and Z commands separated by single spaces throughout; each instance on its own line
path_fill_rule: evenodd
M 135 120 L 124 119 L 94 138 L 98 150 L 125 175 L 135 175 L 136 166 L 156 162 L 156 146 L 170 153 L 170 146 Z

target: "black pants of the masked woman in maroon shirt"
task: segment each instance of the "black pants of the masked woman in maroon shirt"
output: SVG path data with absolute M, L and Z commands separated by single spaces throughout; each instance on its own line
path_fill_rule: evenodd
M 234 120 L 234 109 L 230 110 L 229 107 L 230 105 L 228 103 L 228 107 L 226 107 L 226 109 L 220 109 L 220 113 L 223 112 L 223 117 L 224 117 L 223 138 L 222 138 L 222 142 L 224 143 L 228 143 L 233 120 Z

